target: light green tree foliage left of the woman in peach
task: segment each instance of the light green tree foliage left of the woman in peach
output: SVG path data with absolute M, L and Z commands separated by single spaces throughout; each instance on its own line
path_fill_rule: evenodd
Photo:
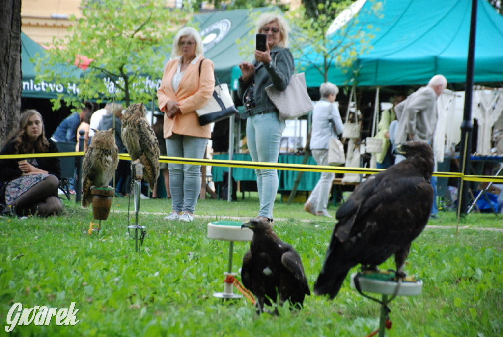
M 165 2 L 149 0 L 82 1 L 82 17 L 72 20 L 65 39 L 54 38 L 45 58 L 38 59 L 40 80 L 75 82 L 78 93 L 53 100 L 68 105 L 85 99 L 148 102 L 155 97 L 163 61 L 173 43 L 173 25 L 181 18 Z M 85 71 L 73 66 L 87 57 Z M 66 64 L 66 67 L 64 66 Z M 61 66 L 63 65 L 63 66 Z M 62 69 L 63 68 L 63 69 Z M 63 77 L 63 78 L 62 78 Z

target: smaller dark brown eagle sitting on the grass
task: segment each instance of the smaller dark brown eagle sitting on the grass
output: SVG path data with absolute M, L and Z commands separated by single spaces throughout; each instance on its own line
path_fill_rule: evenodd
M 292 307 L 301 308 L 305 295 L 310 295 L 300 256 L 288 243 L 283 242 L 265 218 L 253 218 L 241 228 L 253 230 L 250 249 L 243 257 L 241 279 L 243 285 L 257 298 L 257 311 L 279 299 Z M 278 309 L 275 308 L 275 314 Z

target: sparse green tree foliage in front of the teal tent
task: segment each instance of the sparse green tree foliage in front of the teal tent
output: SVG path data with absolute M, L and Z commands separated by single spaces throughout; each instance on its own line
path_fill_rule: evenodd
M 373 3 L 371 11 L 380 13 L 382 2 L 369 1 Z M 319 2 L 316 9 L 312 6 L 309 9 L 301 6 L 286 15 L 296 26 L 295 38 L 291 39 L 290 43 L 296 61 L 313 66 L 323 76 L 324 81 L 328 80 L 328 69 L 332 65 L 348 71 L 353 68 L 358 55 L 372 48 L 376 28 L 372 25 L 360 25 L 358 17 L 364 13 L 354 13 L 354 10 L 350 9 L 352 4 L 350 0 L 325 0 Z M 336 31 L 334 18 L 343 12 L 344 17 L 352 19 L 341 24 Z M 313 54 L 320 56 L 313 58 Z

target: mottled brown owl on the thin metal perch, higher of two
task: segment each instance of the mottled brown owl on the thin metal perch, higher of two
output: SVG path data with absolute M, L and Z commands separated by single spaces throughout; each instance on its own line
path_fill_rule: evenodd
M 122 141 L 131 156 L 131 163 L 142 163 L 143 177 L 153 189 L 159 177 L 159 143 L 148 124 L 143 103 L 131 104 L 122 114 Z

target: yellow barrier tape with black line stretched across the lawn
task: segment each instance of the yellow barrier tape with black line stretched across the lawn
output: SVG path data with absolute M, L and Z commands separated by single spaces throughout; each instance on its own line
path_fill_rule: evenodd
M 57 153 L 30 153 L 30 154 L 8 154 L 0 155 L 0 159 L 18 159 L 18 158 L 42 158 L 42 157 L 76 157 L 82 156 L 85 152 L 57 152 Z M 131 160 L 127 153 L 119 153 L 119 159 Z M 195 158 L 180 158 L 160 156 L 160 162 L 177 162 L 180 164 L 194 165 L 210 165 L 223 167 L 241 167 L 241 168 L 271 168 L 272 170 L 283 171 L 303 171 L 303 172 L 333 172 L 333 173 L 353 173 L 360 175 L 373 175 L 384 168 L 366 168 L 366 167 L 346 167 L 346 166 L 323 166 L 309 164 L 289 164 L 289 163 L 274 163 L 262 161 L 246 161 L 246 160 L 228 160 L 228 159 L 195 159 Z M 463 176 L 460 172 L 434 172 L 435 177 L 441 178 L 461 178 L 470 182 L 494 182 L 503 183 L 502 176 Z

